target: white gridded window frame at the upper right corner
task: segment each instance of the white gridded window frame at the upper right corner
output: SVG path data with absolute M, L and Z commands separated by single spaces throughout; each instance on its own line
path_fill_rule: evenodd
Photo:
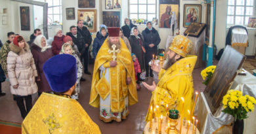
M 230 1 L 230 0 L 228 0 Z M 253 5 L 252 6 L 249 6 L 249 5 L 246 5 L 247 3 L 247 0 L 244 0 L 244 5 L 236 5 L 236 1 L 238 0 L 234 0 L 234 5 L 228 5 L 227 3 L 227 11 L 226 11 L 226 25 L 227 27 L 230 27 L 230 26 L 234 26 L 234 25 L 239 25 L 239 24 L 236 24 L 236 16 L 242 16 L 244 17 L 244 21 L 243 21 L 243 24 L 245 27 L 247 26 L 248 24 L 248 20 L 245 20 L 246 17 L 249 17 L 249 18 L 253 18 L 255 17 L 255 3 L 256 1 L 253 0 Z M 228 14 L 228 7 L 234 7 L 234 14 Z M 236 15 L 236 7 L 244 7 L 244 15 Z M 253 14 L 252 16 L 249 16 L 249 15 L 246 15 L 246 7 L 252 7 L 253 8 Z M 228 16 L 233 16 L 233 24 L 228 24 Z

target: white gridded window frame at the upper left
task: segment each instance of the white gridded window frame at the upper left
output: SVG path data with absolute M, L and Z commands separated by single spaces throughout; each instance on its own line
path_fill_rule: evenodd
M 53 16 L 53 18 L 52 18 L 52 19 L 53 19 L 53 20 L 52 20 L 52 23 L 54 22 L 54 16 L 56 16 L 56 15 L 58 16 L 58 20 L 60 20 L 60 23 L 62 23 L 62 0 L 48 0 L 48 1 L 52 1 L 52 3 L 53 3 L 53 1 L 59 1 L 59 5 L 54 5 L 54 4 L 53 4 L 52 6 L 49 6 L 49 7 L 48 7 L 48 10 L 49 10 L 49 8 L 52 8 L 52 11 L 53 11 L 53 12 L 51 12 L 51 13 L 48 12 L 47 15 L 48 15 L 48 17 L 49 17 L 49 16 Z M 47 0 L 45 0 L 45 3 L 47 3 Z M 59 12 L 60 12 L 59 14 L 56 14 L 56 13 L 54 14 L 54 8 L 56 8 L 56 7 L 59 7 Z M 59 24 L 59 25 L 60 25 L 60 24 Z

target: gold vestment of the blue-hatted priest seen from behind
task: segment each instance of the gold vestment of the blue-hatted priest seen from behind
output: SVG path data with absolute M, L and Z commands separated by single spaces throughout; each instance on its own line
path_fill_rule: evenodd
M 74 99 L 42 93 L 22 122 L 22 133 L 100 133 Z

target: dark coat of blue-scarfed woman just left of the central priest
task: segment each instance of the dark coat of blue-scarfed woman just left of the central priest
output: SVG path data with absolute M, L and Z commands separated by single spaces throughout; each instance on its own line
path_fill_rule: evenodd
M 103 37 L 100 32 L 98 31 L 96 34 L 96 38 L 93 41 L 93 57 L 96 58 L 98 54 L 98 50 L 100 50 L 100 47 L 102 46 L 103 42 L 106 40 L 108 37 L 108 33 L 106 33 L 106 36 Z

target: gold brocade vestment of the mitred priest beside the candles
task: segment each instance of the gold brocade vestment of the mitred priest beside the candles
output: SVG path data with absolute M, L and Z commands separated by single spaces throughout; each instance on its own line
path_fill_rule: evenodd
M 190 120 L 191 117 L 188 115 L 188 110 L 191 111 L 194 104 L 192 71 L 196 64 L 196 59 L 197 56 L 186 56 L 186 58 L 175 62 L 166 71 L 161 69 L 158 75 L 160 81 L 156 86 L 156 90 L 152 92 L 150 101 L 150 107 L 156 108 L 156 105 L 159 106 L 159 109 L 156 109 L 157 114 L 160 113 L 160 115 L 165 116 L 167 113 L 166 105 L 168 105 L 168 109 L 173 109 L 176 106 L 175 109 L 181 113 L 181 97 L 183 97 L 185 101 L 183 115 L 186 120 Z M 146 121 L 150 120 L 149 115 L 152 114 L 150 107 Z M 157 114 L 153 115 L 156 116 Z

